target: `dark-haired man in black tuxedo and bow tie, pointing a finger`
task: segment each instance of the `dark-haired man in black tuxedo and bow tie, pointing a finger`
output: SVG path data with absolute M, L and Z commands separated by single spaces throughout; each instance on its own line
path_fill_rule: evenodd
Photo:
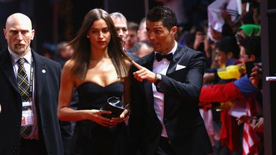
M 197 106 L 204 54 L 176 42 L 176 15 L 166 6 L 148 12 L 146 31 L 154 51 L 133 62 L 130 76 L 132 150 L 147 155 L 210 154 L 213 149 Z

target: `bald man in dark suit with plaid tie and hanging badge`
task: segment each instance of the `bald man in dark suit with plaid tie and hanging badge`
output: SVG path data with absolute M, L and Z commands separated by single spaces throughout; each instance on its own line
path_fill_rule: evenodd
M 61 66 L 31 49 L 31 19 L 10 15 L 0 51 L 0 154 L 63 154 L 57 103 Z

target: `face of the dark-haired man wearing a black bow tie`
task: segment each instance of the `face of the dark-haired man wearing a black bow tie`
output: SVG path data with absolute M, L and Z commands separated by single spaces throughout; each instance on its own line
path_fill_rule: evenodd
M 167 54 L 174 48 L 174 34 L 177 28 L 168 30 L 162 21 L 159 22 L 146 22 L 146 31 L 149 41 L 153 44 L 153 49 L 162 54 Z

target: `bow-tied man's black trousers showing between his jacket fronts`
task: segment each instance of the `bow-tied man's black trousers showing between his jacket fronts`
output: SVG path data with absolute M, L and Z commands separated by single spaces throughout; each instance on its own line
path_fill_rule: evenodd
M 175 155 L 168 138 L 161 137 L 155 155 Z

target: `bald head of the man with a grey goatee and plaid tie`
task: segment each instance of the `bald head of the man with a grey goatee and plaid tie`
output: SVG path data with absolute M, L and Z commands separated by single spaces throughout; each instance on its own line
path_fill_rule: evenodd
M 13 53 L 24 56 L 30 49 L 31 40 L 35 31 L 31 26 L 31 19 L 22 13 L 10 15 L 6 21 L 6 28 L 3 29 L 8 48 Z

